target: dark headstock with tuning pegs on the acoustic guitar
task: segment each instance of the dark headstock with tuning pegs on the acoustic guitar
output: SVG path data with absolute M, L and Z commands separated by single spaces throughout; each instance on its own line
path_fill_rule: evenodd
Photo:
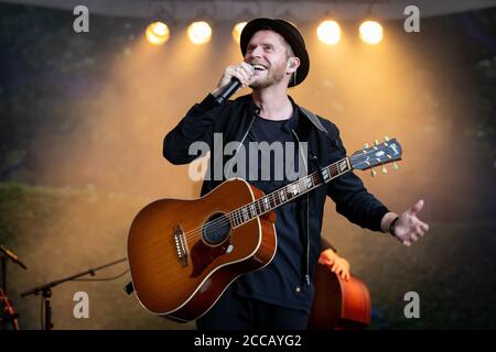
M 396 139 L 385 138 L 385 142 L 379 143 L 375 141 L 375 145 L 364 145 L 363 150 L 356 151 L 351 157 L 349 163 L 352 168 L 356 169 L 369 169 L 375 166 L 392 163 L 392 168 L 398 169 L 398 165 L 395 163 L 401 160 L 401 145 Z M 382 173 L 386 174 L 386 166 L 382 166 Z M 373 168 L 371 175 L 376 176 L 376 170 Z

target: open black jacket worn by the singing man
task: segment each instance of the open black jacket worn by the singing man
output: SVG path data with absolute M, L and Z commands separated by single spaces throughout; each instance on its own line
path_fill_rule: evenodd
M 336 125 L 302 107 L 295 107 L 299 109 L 301 118 L 294 133 L 300 142 L 308 143 L 308 174 L 343 158 L 346 150 Z M 256 118 L 257 109 L 251 96 L 242 96 L 218 106 L 215 98 L 208 95 L 201 103 L 194 105 L 181 122 L 166 134 L 163 142 L 164 157 L 175 165 L 191 163 L 202 155 L 201 153 L 190 155 L 190 145 L 193 142 L 202 141 L 208 144 L 211 151 L 207 173 L 214 169 L 215 161 L 222 161 L 222 165 L 217 165 L 217 169 L 220 166 L 220 169 L 224 170 L 224 165 L 233 156 L 224 155 L 220 146 L 214 145 L 214 133 L 223 133 L 224 146 L 231 141 L 242 143 Z M 216 153 L 223 157 L 214 158 Z M 222 180 L 215 180 L 214 177 L 205 179 L 202 186 L 202 196 L 220 183 Z M 373 231 L 380 231 L 380 220 L 388 212 L 388 209 L 367 191 L 363 182 L 353 172 L 302 196 L 300 216 L 303 229 L 306 229 L 303 239 L 305 242 L 303 248 L 306 248 L 306 252 L 303 253 L 302 273 L 303 280 L 308 285 L 313 277 L 322 249 L 321 229 L 326 196 L 334 200 L 338 213 L 353 223 Z

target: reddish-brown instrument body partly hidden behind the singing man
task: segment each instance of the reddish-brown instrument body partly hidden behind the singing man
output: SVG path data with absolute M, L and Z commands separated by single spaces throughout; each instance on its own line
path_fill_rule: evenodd
M 370 324 L 370 294 L 358 278 L 341 278 L 325 265 L 315 268 L 309 329 L 359 330 Z

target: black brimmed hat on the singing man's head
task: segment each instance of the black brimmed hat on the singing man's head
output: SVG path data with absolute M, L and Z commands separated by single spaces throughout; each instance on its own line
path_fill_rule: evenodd
M 251 36 L 258 31 L 271 30 L 279 33 L 293 50 L 294 56 L 300 58 L 300 67 L 296 70 L 295 79 L 291 79 L 289 87 L 298 86 L 301 84 L 309 74 L 310 69 L 310 57 L 306 52 L 305 41 L 303 36 L 298 31 L 298 29 L 288 21 L 280 19 L 255 19 L 248 22 L 241 32 L 241 37 L 239 44 L 241 46 L 242 56 L 246 54 L 246 50 Z

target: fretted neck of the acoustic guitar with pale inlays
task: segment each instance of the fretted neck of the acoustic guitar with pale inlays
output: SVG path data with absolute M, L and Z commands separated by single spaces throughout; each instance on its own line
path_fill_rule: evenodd
M 285 185 L 246 206 L 230 211 L 227 216 L 233 228 L 238 228 L 244 223 L 251 221 L 276 208 L 291 201 L 312 189 L 328 183 L 352 169 L 349 158 L 344 157 L 319 172 L 302 177 L 291 184 Z

